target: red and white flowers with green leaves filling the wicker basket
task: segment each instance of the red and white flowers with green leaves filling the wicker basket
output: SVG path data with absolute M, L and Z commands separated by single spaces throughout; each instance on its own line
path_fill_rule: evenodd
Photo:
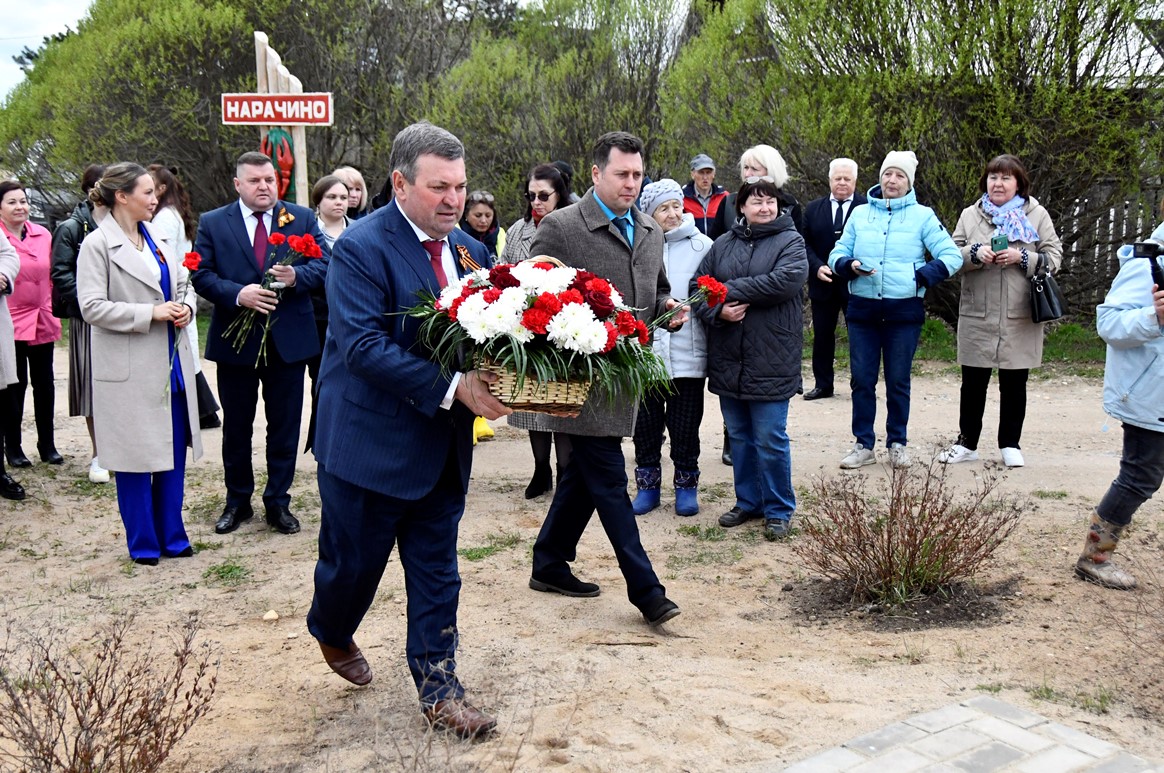
M 723 288 L 711 277 L 701 277 L 700 286 L 680 303 Z M 672 314 L 648 326 L 634 311 L 609 281 L 542 256 L 467 274 L 435 298 L 421 295 L 405 313 L 421 320 L 418 338 L 446 371 L 466 364 L 501 369 L 512 376 L 501 389 L 502 400 L 538 410 L 517 398 L 526 381 L 535 391 L 583 384 L 583 399 L 591 383 L 627 399 L 667 389 L 669 376 L 651 349 L 651 329 Z

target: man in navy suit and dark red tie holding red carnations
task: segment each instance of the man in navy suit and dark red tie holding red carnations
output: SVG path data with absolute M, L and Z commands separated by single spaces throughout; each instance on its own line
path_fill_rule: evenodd
M 311 210 L 278 200 L 275 166 L 263 154 L 239 156 L 234 187 L 239 200 L 204 214 L 194 237 L 194 251 L 203 258 L 193 275 L 194 289 L 214 304 L 206 359 L 218 363 L 222 403 L 226 508 L 214 531 L 233 532 L 254 515 L 250 440 L 262 386 L 267 413 L 267 523 L 278 532 L 293 534 L 299 531 L 299 522 L 289 508 L 288 491 L 299 445 L 304 368 L 310 357 L 319 354 L 310 292 L 324 286 L 327 247 Z M 324 257 L 277 265 L 290 247 L 274 244 L 271 237 L 276 234 L 284 239 L 311 234 L 324 249 Z M 262 288 L 264 272 L 285 285 L 282 295 Z M 256 310 L 258 315 L 244 346 L 235 350 L 234 341 L 223 338 L 223 332 L 247 309 Z M 270 339 L 265 359 L 260 361 L 268 317 Z

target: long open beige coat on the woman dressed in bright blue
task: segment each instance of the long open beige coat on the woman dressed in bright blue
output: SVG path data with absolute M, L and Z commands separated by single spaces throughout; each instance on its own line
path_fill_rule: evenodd
M 149 228 L 149 225 L 146 226 Z M 150 231 L 170 268 L 170 297 L 190 306 L 190 272 L 173 246 Z M 122 473 L 173 469 L 168 326 L 155 322 L 162 289 L 113 217 L 90 234 L 77 258 L 77 300 L 93 327 L 93 430 L 101 464 Z M 178 336 L 194 459 L 203 455 L 190 336 Z M 179 440 L 184 442 L 184 440 Z

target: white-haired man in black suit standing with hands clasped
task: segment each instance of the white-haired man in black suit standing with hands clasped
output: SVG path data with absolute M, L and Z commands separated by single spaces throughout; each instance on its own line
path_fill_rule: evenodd
M 812 378 L 804 399 L 832 397 L 832 360 L 837 352 L 837 319 L 849 305 L 846 283 L 829 269 L 829 253 L 844 231 L 853 207 L 865 204 L 857 190 L 857 162 L 829 162 L 829 196 L 804 208 L 804 248 L 808 251 L 808 299 L 812 302 Z

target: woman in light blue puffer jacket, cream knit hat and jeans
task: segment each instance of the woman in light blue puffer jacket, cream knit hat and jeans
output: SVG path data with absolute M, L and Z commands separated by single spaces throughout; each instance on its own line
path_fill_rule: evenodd
M 927 288 L 961 268 L 961 253 L 942 221 L 917 203 L 916 172 L 911 150 L 890 151 L 881 163 L 881 184 L 870 189 L 868 204 L 853 210 L 829 254 L 829 268 L 849 282 L 845 321 L 857 442 L 840 460 L 842 469 L 876 462 L 873 424 L 882 361 L 889 463 L 909 466 L 909 370 L 925 321 L 922 298 Z M 929 262 L 927 251 L 932 256 Z

